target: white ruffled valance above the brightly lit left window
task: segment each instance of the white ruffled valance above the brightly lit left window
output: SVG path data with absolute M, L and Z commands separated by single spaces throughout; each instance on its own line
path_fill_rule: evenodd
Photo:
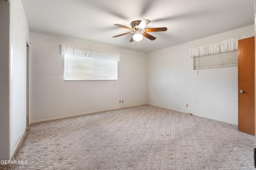
M 72 55 L 72 56 L 89 57 L 89 58 L 101 59 L 101 60 L 120 61 L 120 54 L 117 54 L 117 53 L 93 51 L 90 49 L 72 47 L 72 46 L 67 46 L 63 44 L 61 45 L 60 53 L 61 55 Z

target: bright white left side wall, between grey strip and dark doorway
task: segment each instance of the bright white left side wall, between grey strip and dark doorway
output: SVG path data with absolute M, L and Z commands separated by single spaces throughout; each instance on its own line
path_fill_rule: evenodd
M 20 0 L 10 1 L 10 158 L 26 130 L 26 41 L 29 27 Z

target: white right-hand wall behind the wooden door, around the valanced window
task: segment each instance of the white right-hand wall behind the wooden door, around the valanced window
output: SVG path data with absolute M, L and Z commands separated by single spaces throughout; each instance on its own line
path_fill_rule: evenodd
M 189 49 L 251 34 L 254 25 L 148 53 L 148 104 L 237 125 L 237 67 L 197 75 Z

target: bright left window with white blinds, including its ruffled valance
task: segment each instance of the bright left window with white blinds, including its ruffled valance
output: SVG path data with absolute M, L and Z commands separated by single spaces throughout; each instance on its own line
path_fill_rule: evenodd
M 117 80 L 120 54 L 60 45 L 64 80 Z

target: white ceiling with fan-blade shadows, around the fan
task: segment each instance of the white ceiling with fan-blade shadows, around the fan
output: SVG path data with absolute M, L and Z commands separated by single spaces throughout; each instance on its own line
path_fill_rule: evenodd
M 21 0 L 30 31 L 151 52 L 254 24 L 254 0 Z M 131 27 L 148 19 L 151 41 L 130 42 Z M 213 42 L 214 43 L 214 42 Z M 86 47 L 85 47 L 86 48 Z

